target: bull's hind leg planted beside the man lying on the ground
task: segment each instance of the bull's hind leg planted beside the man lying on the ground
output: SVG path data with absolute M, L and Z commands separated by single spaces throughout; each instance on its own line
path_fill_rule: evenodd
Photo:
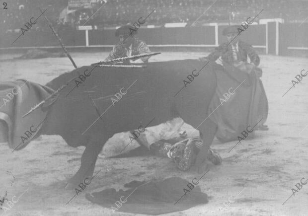
M 209 159 L 214 164 L 220 164 L 222 162 L 220 155 L 210 148 L 217 132 L 217 125 L 208 118 L 198 129 L 200 136 L 202 136 L 203 146 L 197 155 L 195 164 L 199 168 L 199 171 L 205 171 L 207 169 L 205 167 L 206 159 Z

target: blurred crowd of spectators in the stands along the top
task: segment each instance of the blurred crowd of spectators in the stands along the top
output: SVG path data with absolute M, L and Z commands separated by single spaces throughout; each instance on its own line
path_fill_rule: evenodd
M 226 22 L 246 20 L 264 9 L 260 18 L 284 18 L 304 20 L 307 17 L 305 8 L 307 0 L 107 0 L 88 21 L 87 25 L 122 25 L 132 23 L 139 17 L 146 17 L 153 9 L 155 12 L 148 17 L 148 24 L 167 22 Z M 1 25 L 6 29 L 19 29 L 29 20 L 36 17 L 41 8 L 47 8 L 48 17 L 60 28 L 82 25 L 103 3 L 93 4 L 92 8 L 71 10 L 67 15 L 70 19 L 60 19 L 60 13 L 68 8 L 68 0 L 13 0 L 7 2 L 8 9 L 1 10 Z M 212 3 L 212 7 L 204 12 Z M 69 21 L 68 21 L 69 20 Z M 43 23 L 44 24 L 44 23 Z M 46 26 L 46 24 L 45 24 Z M 37 29 L 44 28 L 36 25 Z

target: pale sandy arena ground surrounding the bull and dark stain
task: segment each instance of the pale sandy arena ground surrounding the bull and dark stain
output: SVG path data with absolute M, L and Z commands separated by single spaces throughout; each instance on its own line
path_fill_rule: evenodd
M 78 67 L 101 61 L 107 54 L 71 53 Z M 207 54 L 163 52 L 152 57 L 151 61 L 197 59 Z M 4 57 L 2 52 L 0 59 L 17 56 L 20 54 Z M 282 204 L 292 194 L 291 188 L 295 188 L 300 179 L 308 179 L 308 78 L 304 77 L 295 88 L 284 97 L 282 95 L 291 87 L 291 80 L 299 72 L 308 70 L 308 61 L 305 58 L 270 55 L 261 55 L 260 58 L 260 67 L 263 69 L 261 79 L 269 101 L 267 125 L 270 130 L 257 131 L 253 139 L 242 141 L 230 153 L 229 149 L 236 142 L 221 144 L 215 140 L 212 147 L 220 152 L 223 163 L 211 166 L 211 170 L 199 183 L 201 190 L 209 195 L 209 203 L 166 215 L 307 215 L 308 185 L 303 186 L 285 205 Z M 1 61 L 0 80 L 24 78 L 46 84 L 61 73 L 73 69 L 68 58 Z M 183 78 L 188 73 L 183 72 Z M 108 142 L 112 144 L 115 141 L 112 138 Z M 7 191 L 10 198 L 29 188 L 7 215 L 14 215 L 18 211 L 29 216 L 133 215 L 112 213 L 111 209 L 87 201 L 84 194 L 109 187 L 121 189 L 122 185 L 132 180 L 149 181 L 181 176 L 191 181 L 200 176 L 194 170 L 182 172 L 176 169 L 168 158 L 146 155 L 106 159 L 101 153 L 95 172 L 100 169 L 102 171 L 85 191 L 65 205 L 75 195 L 75 191 L 64 190 L 64 186 L 67 178 L 76 173 L 83 149 L 68 146 L 58 136 L 41 136 L 25 149 L 13 153 L 7 144 L 0 144 L 0 195 Z M 7 171 L 15 176 L 12 184 L 12 177 Z M 230 201 L 230 207 L 226 208 L 224 203 Z

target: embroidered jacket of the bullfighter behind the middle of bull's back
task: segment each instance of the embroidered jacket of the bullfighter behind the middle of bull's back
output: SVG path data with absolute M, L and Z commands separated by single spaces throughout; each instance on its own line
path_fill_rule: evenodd
M 147 54 L 147 53 L 151 53 L 147 44 L 138 38 L 134 38 L 134 42 L 132 43 L 132 54 L 131 55 L 135 56 L 135 55 L 141 55 L 141 54 Z M 105 61 L 120 58 L 120 57 L 127 57 L 127 49 L 122 44 L 119 43 L 113 47 L 113 50 L 111 51 L 109 56 L 105 59 Z M 150 56 L 141 58 L 143 62 L 148 62 L 149 59 L 150 59 Z

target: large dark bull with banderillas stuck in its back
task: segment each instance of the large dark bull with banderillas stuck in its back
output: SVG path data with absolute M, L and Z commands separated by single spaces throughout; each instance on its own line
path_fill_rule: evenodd
M 71 146 L 86 146 L 80 168 L 69 184 L 79 184 L 93 174 L 99 152 L 114 134 L 146 126 L 153 118 L 148 127 L 175 117 L 181 117 L 194 128 L 199 126 L 207 150 L 214 139 L 216 125 L 210 119 L 203 120 L 208 116 L 207 109 L 217 83 L 212 65 L 202 69 L 204 65 L 197 60 L 182 60 L 149 63 L 147 68 L 97 67 L 93 70 L 93 66 L 85 66 L 47 83 L 48 87 L 58 89 L 74 76 L 88 75 L 78 87 L 73 81 L 61 91 L 58 100 L 50 105 L 41 130 L 41 134 L 62 136 Z M 183 80 L 188 80 L 187 75 L 193 70 L 197 70 L 194 71 L 197 74 L 200 69 L 199 75 L 174 96 L 184 86 Z M 117 99 L 115 94 L 120 90 L 127 93 Z M 100 119 L 89 96 L 99 109 Z

